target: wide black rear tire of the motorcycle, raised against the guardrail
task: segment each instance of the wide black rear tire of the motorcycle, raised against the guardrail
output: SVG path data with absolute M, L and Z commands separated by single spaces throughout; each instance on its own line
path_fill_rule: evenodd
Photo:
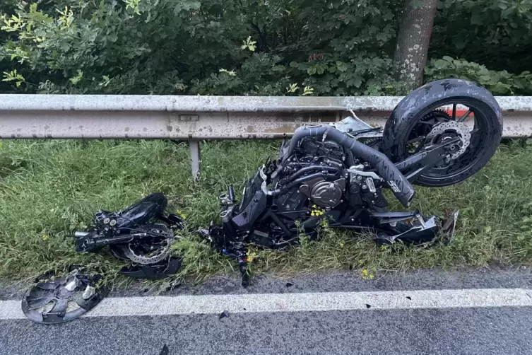
M 430 175 L 422 173 L 414 183 L 426 187 L 444 187 L 455 185 L 482 169 L 492 158 L 502 138 L 502 110 L 493 95 L 485 88 L 470 81 L 445 79 L 427 83 L 407 95 L 391 112 L 384 127 L 381 149 L 391 161 L 397 163 L 408 158 L 406 142 L 410 133 L 422 117 L 432 110 L 459 102 L 475 107 L 475 117 L 482 117 L 483 131 L 478 139 L 483 144 L 481 150 L 467 156 L 457 158 L 466 166 L 450 175 Z M 466 161 L 471 160 L 471 162 Z

